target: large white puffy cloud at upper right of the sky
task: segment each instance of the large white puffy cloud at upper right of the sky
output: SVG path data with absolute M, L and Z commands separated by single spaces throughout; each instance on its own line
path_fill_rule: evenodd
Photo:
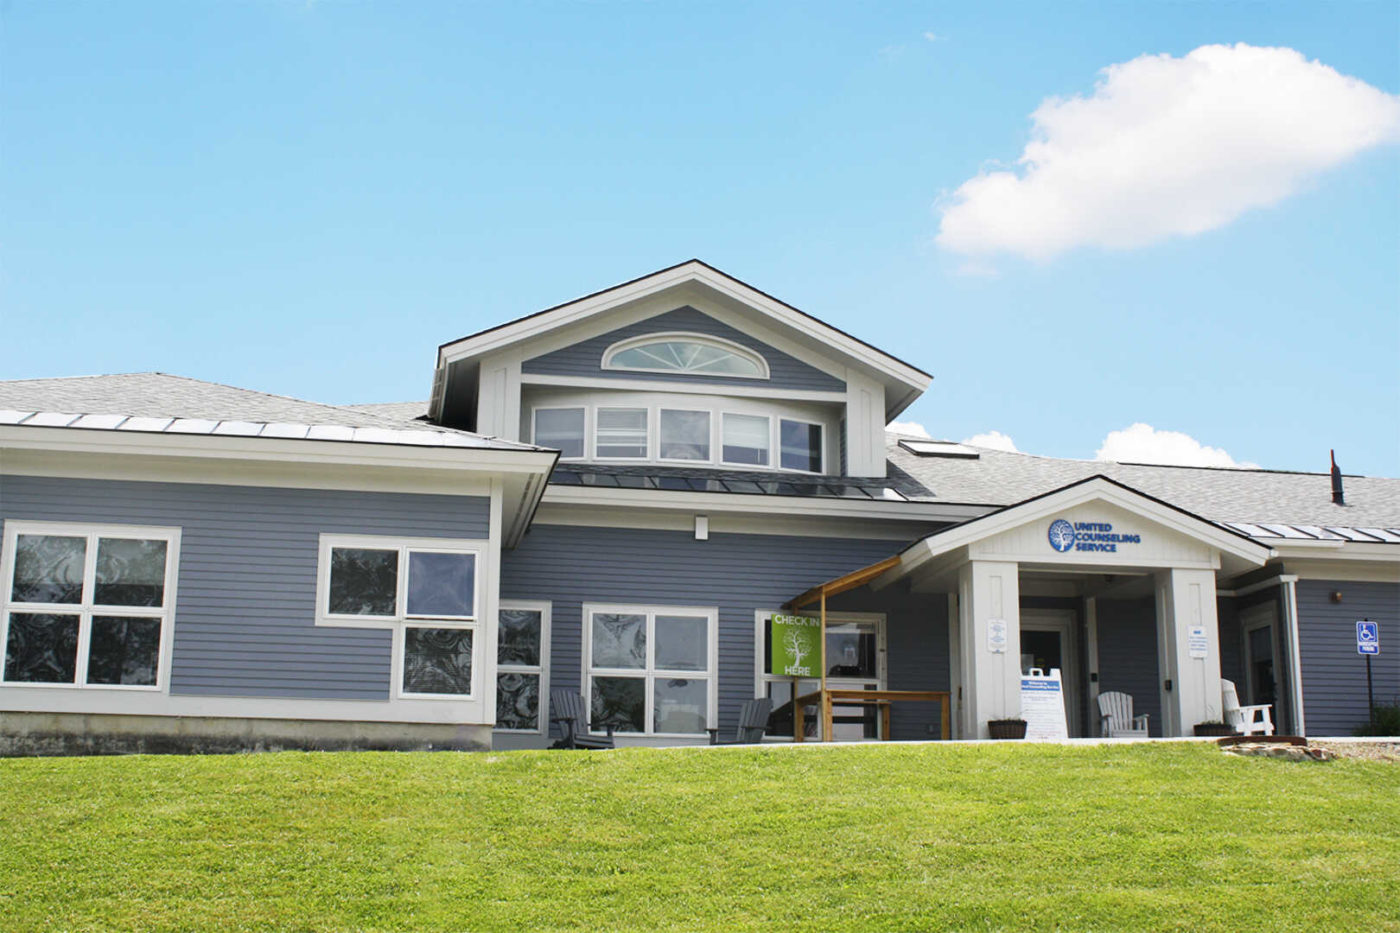
M 1215 230 L 1400 139 L 1400 97 L 1294 49 L 1205 45 L 1110 64 L 1088 97 L 1046 98 L 1016 171 L 942 206 L 938 244 L 1049 259 Z

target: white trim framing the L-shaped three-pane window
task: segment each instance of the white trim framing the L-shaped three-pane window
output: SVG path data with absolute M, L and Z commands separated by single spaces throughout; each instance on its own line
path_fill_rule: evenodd
M 328 611 L 330 604 L 330 549 L 364 548 L 370 551 L 398 551 L 399 577 L 395 594 L 395 614 L 389 615 L 339 615 Z M 489 573 L 489 542 L 477 538 L 403 538 L 398 535 L 340 535 L 322 534 L 316 551 L 316 625 L 343 629 L 388 629 L 391 637 L 389 678 L 391 696 L 405 700 L 479 700 L 482 696 L 483 668 L 482 651 L 487 647 L 486 626 L 482 622 L 482 601 Z M 438 553 L 472 553 L 476 558 L 475 586 L 472 591 L 470 616 L 409 615 L 409 559 L 410 551 Z M 469 629 L 472 632 L 472 688 L 469 693 L 413 693 L 403 689 L 403 630 L 420 629 Z M 494 661 L 490 664 L 494 671 Z M 494 689 L 494 681 L 491 689 Z

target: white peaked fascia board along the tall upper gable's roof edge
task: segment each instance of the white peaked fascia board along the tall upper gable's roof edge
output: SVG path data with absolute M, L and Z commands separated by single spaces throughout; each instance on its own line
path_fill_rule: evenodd
M 507 346 L 564 328 L 571 324 L 585 321 L 589 317 L 616 308 L 630 301 L 637 301 L 652 293 L 672 289 L 687 282 L 700 282 L 711 290 L 738 301 L 743 305 L 763 311 L 769 317 L 785 324 L 790 328 L 806 333 L 820 335 L 827 346 L 839 350 L 844 356 L 860 361 L 869 370 L 888 378 L 904 382 L 913 389 L 923 392 L 928 388 L 931 378 L 914 367 L 881 353 L 872 346 L 851 338 L 841 331 L 822 324 L 820 321 L 802 314 L 788 305 L 770 298 L 769 296 L 745 286 L 736 279 L 715 272 L 699 262 L 686 262 L 672 269 L 666 269 L 644 279 L 638 279 L 616 289 L 609 289 L 588 298 L 580 298 L 570 304 L 554 308 L 546 314 L 538 314 L 515 324 L 507 324 L 475 338 L 465 338 L 454 343 L 447 343 L 438 349 L 438 367 L 461 360 L 468 356 L 482 356 Z

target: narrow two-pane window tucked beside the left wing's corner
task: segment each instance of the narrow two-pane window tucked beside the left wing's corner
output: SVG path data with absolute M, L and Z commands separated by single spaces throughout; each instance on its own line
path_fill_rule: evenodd
M 501 602 L 496 636 L 496 728 L 545 733 L 549 602 Z

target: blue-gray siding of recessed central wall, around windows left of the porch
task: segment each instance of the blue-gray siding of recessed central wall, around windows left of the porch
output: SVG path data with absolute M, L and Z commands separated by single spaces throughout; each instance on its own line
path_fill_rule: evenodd
M 503 600 L 553 604 L 550 686 L 581 689 L 582 604 L 717 607 L 720 727 L 753 699 L 753 612 L 890 556 L 892 541 L 535 525 L 501 558 Z M 946 640 L 946 637 L 945 637 Z

